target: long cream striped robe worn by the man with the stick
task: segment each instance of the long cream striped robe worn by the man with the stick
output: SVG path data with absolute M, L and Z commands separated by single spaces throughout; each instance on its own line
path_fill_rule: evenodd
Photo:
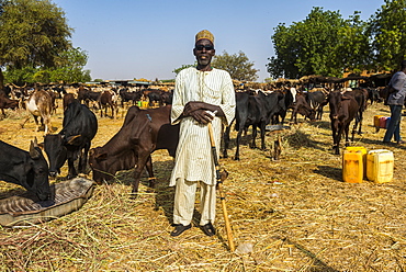
M 170 186 L 176 185 L 178 178 L 203 181 L 208 185 L 216 183 L 207 125 L 198 123 L 193 117 L 179 118 L 190 101 L 206 102 L 223 110 L 225 117 L 215 117 L 212 121 L 218 156 L 222 122 L 228 125 L 235 116 L 235 91 L 229 73 L 215 68 L 200 71 L 191 67 L 177 76 L 171 122 L 180 122 L 180 133 Z

